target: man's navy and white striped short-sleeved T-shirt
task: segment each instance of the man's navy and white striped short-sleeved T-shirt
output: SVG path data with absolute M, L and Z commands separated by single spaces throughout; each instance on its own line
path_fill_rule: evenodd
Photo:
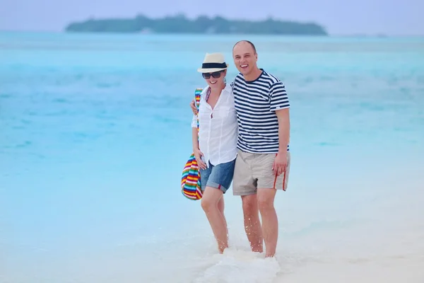
M 232 82 L 239 134 L 237 149 L 255 154 L 278 153 L 276 110 L 290 108 L 284 84 L 263 69 L 254 81 L 238 74 Z M 288 150 L 288 146 L 287 146 Z

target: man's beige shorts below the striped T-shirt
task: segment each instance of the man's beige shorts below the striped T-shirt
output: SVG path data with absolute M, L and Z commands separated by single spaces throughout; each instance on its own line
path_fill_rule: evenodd
M 276 154 L 250 154 L 237 150 L 233 195 L 254 195 L 260 189 L 287 190 L 290 173 L 290 151 L 287 152 L 287 168 L 281 175 L 273 174 L 272 166 Z

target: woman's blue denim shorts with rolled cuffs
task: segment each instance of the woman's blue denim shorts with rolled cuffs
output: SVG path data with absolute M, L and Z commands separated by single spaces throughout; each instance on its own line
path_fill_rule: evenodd
M 222 190 L 223 193 L 227 192 L 232 182 L 232 175 L 234 175 L 235 159 L 227 163 L 220 163 L 213 166 L 209 162 L 206 169 L 200 169 L 201 190 L 204 192 L 206 187 L 216 187 Z

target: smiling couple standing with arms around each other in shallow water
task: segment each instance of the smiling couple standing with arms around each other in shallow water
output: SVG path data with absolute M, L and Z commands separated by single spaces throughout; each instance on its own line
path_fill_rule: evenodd
M 283 83 L 257 67 L 252 42 L 237 42 L 232 58 L 240 74 L 228 84 L 223 55 L 206 54 L 198 69 L 208 83 L 201 93 L 199 113 L 194 100 L 190 105 L 193 150 L 203 191 L 201 207 L 223 253 L 228 248 L 223 194 L 232 183 L 233 195 L 242 197 L 252 251 L 262 253 L 264 242 L 265 256 L 273 257 L 278 238 L 273 202 L 276 190 L 287 189 L 290 169 L 290 105 Z

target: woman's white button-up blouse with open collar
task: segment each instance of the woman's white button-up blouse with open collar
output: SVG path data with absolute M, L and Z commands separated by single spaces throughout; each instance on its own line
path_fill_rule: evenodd
M 215 108 L 206 102 L 204 88 L 199 105 L 199 149 L 204 154 L 204 162 L 209 166 L 230 162 L 237 156 L 237 114 L 234 95 L 230 83 L 220 93 Z M 197 117 L 193 115 L 192 127 L 197 127 Z

